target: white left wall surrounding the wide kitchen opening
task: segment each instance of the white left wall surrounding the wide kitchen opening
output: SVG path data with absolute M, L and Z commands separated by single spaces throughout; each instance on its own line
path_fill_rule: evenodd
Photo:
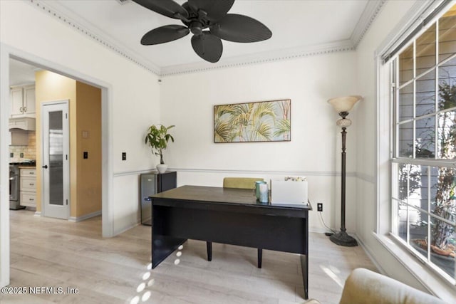
M 105 194 L 109 194 L 111 199 L 103 203 L 103 212 L 105 206 L 109 209 L 107 214 L 103 213 L 103 221 L 110 221 L 110 234 L 138 223 L 138 172 L 154 166 L 143 137 L 147 127 L 159 121 L 157 77 L 52 18 L 46 11 L 36 9 L 35 5 L 36 2 L 31 4 L 28 1 L 0 1 L 3 79 L 0 86 L 1 285 L 9 282 L 8 146 L 3 140 L 8 135 L 9 112 L 9 84 L 5 83 L 7 74 L 3 73 L 8 66 L 8 58 L 4 58 L 6 53 L 20 54 L 51 70 L 63 71 L 79 80 L 90 79 L 90 84 L 104 88 L 103 168 L 108 174 L 103 174 L 103 199 L 106 199 Z M 121 152 L 127 152 L 127 161 L 121 161 Z M 117 187 L 118 184 L 130 187 Z

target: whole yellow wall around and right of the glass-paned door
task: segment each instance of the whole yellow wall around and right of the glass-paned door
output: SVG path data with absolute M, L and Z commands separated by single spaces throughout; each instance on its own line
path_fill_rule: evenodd
M 101 90 L 56 73 L 35 73 L 36 211 L 41 211 L 41 103 L 69 100 L 70 216 L 101 210 Z M 80 98 L 78 98 L 78 94 Z M 83 139 L 82 131 L 88 131 Z M 83 151 L 89 158 L 83 159 Z

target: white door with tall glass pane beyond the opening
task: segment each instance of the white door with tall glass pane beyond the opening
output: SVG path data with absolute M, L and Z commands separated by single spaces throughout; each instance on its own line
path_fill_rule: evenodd
M 70 216 L 68 100 L 41 104 L 43 215 Z

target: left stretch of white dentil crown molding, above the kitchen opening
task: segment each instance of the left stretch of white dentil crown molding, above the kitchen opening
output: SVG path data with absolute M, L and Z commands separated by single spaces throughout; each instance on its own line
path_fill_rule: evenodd
M 66 7 L 59 4 L 58 1 L 28 0 L 28 3 L 36 9 L 43 11 L 43 13 L 48 14 L 48 16 L 51 16 L 53 19 L 57 19 L 58 21 L 65 23 L 75 31 L 86 35 L 93 41 L 100 43 L 115 53 L 118 53 L 118 55 L 123 56 L 128 59 L 128 61 L 145 68 L 155 75 L 160 75 L 160 68 L 157 65 L 138 55 L 138 53 L 135 53 L 135 51 L 128 48 L 128 46 L 116 41 L 115 38 L 110 37 L 107 33 L 100 30 L 100 28 L 97 28 L 92 23 L 81 19 L 80 16 L 66 9 Z

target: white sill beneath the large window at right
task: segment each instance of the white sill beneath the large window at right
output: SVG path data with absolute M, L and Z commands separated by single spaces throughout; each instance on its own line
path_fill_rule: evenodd
M 373 232 L 373 236 L 378 240 L 408 271 L 420 282 L 429 293 L 447 301 L 456 302 L 456 288 L 449 282 L 437 275 L 432 269 L 421 263 L 412 253 L 396 243 L 391 236 L 380 235 Z

